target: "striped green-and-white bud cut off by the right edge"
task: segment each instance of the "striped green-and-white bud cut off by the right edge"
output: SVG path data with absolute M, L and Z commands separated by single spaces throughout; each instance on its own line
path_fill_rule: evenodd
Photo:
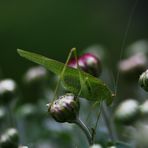
M 140 75 L 139 84 L 145 91 L 148 91 L 148 69 Z

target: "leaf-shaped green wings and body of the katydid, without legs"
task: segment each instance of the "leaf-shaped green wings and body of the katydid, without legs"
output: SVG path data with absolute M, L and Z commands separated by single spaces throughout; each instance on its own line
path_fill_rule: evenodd
M 20 56 L 44 66 L 56 75 L 61 74 L 65 65 L 36 53 L 21 49 L 18 49 L 17 51 Z M 82 83 L 80 83 L 79 72 L 80 71 L 78 69 L 66 66 L 66 70 L 62 78 L 62 84 L 68 91 L 78 94 L 82 88 L 80 96 L 87 100 L 101 101 L 106 99 L 108 104 L 112 102 L 112 93 L 105 83 L 83 71 L 81 71 L 81 77 L 84 80 L 83 85 L 85 85 L 85 87 L 81 87 Z

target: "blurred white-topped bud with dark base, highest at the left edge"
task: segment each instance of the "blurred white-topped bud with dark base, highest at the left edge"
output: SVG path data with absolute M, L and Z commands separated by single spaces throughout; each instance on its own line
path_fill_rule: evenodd
M 17 85 L 12 79 L 0 81 L 0 102 L 7 104 L 15 97 Z

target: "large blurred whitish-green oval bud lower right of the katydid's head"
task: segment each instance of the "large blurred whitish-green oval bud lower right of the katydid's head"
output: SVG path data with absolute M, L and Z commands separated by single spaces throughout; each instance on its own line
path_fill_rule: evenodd
M 115 120 L 120 124 L 129 125 L 138 118 L 138 115 L 139 103 L 129 99 L 119 104 L 115 111 Z

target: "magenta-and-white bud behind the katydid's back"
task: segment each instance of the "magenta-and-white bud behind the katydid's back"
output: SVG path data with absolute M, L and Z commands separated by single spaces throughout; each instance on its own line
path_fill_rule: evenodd
M 85 53 L 78 58 L 79 68 L 95 77 L 100 76 L 102 67 L 98 57 L 91 53 Z M 71 59 L 68 63 L 70 67 L 77 68 L 76 59 Z

